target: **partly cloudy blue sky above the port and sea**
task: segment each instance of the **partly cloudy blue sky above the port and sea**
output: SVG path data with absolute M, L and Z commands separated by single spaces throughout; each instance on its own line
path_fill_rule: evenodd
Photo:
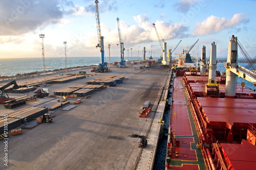
M 124 59 L 142 56 L 159 58 L 161 46 L 153 26 L 167 50 L 189 48 L 201 56 L 212 42 L 217 56 L 227 57 L 229 38 L 238 37 L 251 58 L 256 56 L 256 0 L 98 0 L 105 56 L 120 56 L 117 17 L 124 43 Z M 100 57 L 96 4 L 91 0 L 2 0 L 0 1 L 0 58 Z M 108 44 L 111 45 L 110 51 Z M 131 50 L 132 48 L 132 50 Z M 174 55 L 173 56 L 176 56 Z M 243 58 L 239 51 L 239 58 Z

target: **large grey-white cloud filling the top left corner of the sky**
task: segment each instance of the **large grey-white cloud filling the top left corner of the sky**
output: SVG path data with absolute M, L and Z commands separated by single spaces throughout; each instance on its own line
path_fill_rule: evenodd
M 22 35 L 54 25 L 70 14 L 68 9 L 73 6 L 68 0 L 0 1 L 0 35 Z

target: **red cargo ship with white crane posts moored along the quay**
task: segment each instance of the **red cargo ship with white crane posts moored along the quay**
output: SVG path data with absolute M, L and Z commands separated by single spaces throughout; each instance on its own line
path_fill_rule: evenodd
M 200 71 L 173 70 L 165 169 L 255 169 L 256 92 L 236 80 L 254 86 L 256 77 L 238 65 L 238 46 L 232 36 L 225 74 L 216 74 L 215 43 L 208 72 L 205 47 Z

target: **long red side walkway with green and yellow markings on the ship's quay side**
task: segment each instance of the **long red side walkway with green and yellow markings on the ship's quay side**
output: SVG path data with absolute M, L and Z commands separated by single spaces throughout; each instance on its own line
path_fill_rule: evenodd
M 170 113 L 170 127 L 175 131 L 178 157 L 171 157 L 168 169 L 206 169 L 203 154 L 197 148 L 198 134 L 191 115 L 182 77 L 174 80 L 173 104 Z

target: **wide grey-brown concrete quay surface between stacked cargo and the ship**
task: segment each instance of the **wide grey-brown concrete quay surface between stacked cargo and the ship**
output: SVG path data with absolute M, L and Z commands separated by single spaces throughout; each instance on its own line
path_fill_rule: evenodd
M 95 92 L 70 110 L 51 111 L 55 115 L 53 123 L 23 129 L 20 135 L 10 135 L 8 166 L 4 165 L 5 153 L 0 152 L 0 169 L 135 169 L 141 155 L 138 148 L 140 138 L 130 135 L 141 135 L 151 127 L 154 114 L 150 113 L 145 121 L 145 118 L 138 117 L 139 112 L 148 100 L 153 104 L 153 110 L 159 107 L 159 95 L 162 96 L 169 75 L 160 64 L 150 67 L 150 70 L 138 69 L 139 66 L 111 68 L 112 72 L 49 86 L 50 94 L 53 94 L 55 90 L 86 84 L 97 77 L 125 77 L 123 84 Z M 82 71 L 91 73 L 90 69 Z M 32 96 L 33 92 L 28 95 Z M 77 99 L 69 99 L 71 105 Z M 37 99 L 14 109 L 0 105 L 0 114 L 26 106 L 51 107 L 58 100 L 62 100 L 61 96 L 55 100 Z M 1 140 L 0 150 L 4 148 L 5 143 Z

